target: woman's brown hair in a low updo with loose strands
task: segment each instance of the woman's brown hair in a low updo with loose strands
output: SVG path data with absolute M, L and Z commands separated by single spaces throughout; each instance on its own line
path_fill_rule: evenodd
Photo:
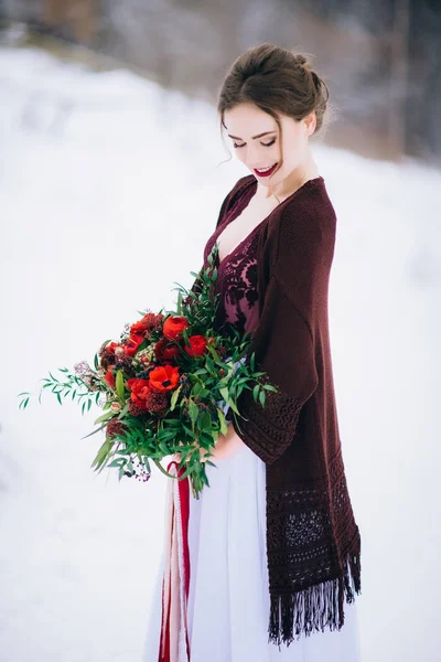
M 279 127 L 280 138 L 279 114 L 300 121 L 313 110 L 316 117 L 314 135 L 319 131 L 324 135 L 330 93 L 324 79 L 312 70 L 309 57 L 312 56 L 269 43 L 254 46 L 239 55 L 228 70 L 218 94 L 222 140 L 223 127 L 226 128 L 225 111 L 243 103 L 254 104 L 271 115 Z

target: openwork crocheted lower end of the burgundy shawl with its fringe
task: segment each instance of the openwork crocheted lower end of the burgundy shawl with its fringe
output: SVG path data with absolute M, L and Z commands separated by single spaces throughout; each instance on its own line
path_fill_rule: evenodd
M 269 641 L 344 624 L 343 604 L 361 592 L 361 534 L 347 490 L 342 448 L 327 476 L 284 489 L 267 487 L 270 577 Z

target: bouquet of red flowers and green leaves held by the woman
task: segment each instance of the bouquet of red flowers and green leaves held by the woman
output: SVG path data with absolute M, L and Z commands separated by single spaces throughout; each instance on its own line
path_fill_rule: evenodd
M 106 467 L 118 470 L 119 480 L 136 477 L 147 481 L 151 462 L 170 478 L 190 479 L 197 499 L 204 484 L 209 487 L 205 465 L 219 434 L 227 431 L 227 412 L 238 423 L 236 399 L 244 388 L 252 389 L 254 399 L 265 406 L 266 373 L 257 371 L 255 353 L 248 357 L 250 335 L 232 328 L 220 334 L 214 329 L 218 295 L 214 295 L 217 244 L 208 255 L 208 267 L 196 276 L 197 288 L 178 288 L 176 310 L 155 313 L 139 311 L 141 319 L 127 324 L 120 340 L 107 340 L 94 357 L 74 366 L 74 374 L 61 367 L 61 378 L 50 372 L 44 388 L 60 404 L 71 396 L 82 413 L 93 403 L 103 408 L 98 426 L 86 439 L 101 430 L 105 440 L 92 462 L 95 471 Z M 19 408 L 29 404 L 30 393 Z M 201 457 L 201 449 L 205 457 Z M 161 460 L 180 453 L 180 476 L 172 476 Z M 182 471 L 182 469 L 184 469 Z

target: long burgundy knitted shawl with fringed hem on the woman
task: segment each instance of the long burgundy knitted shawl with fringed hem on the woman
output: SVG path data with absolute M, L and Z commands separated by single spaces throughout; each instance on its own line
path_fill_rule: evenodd
M 216 227 L 256 178 L 238 180 Z M 336 216 L 322 177 L 259 226 L 259 322 L 250 352 L 278 393 L 262 407 L 243 391 L 233 425 L 267 469 L 269 641 L 344 624 L 361 592 L 361 535 L 347 490 L 327 319 Z M 206 268 L 204 261 L 204 267 Z M 193 291 L 197 290 L 197 279 Z

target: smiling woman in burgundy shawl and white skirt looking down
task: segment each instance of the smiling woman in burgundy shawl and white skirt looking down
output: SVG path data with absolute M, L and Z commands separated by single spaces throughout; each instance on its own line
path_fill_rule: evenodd
M 176 660 L 359 660 L 361 536 L 327 324 L 336 217 L 309 147 L 326 102 L 306 57 L 272 44 L 238 57 L 220 89 L 222 127 L 250 174 L 224 200 L 204 267 L 217 242 L 216 327 L 251 333 L 278 392 L 263 408 L 241 393 L 246 418 L 218 438 L 209 488 L 190 499 L 187 650 Z M 164 659 L 162 587 L 161 567 L 148 662 Z

